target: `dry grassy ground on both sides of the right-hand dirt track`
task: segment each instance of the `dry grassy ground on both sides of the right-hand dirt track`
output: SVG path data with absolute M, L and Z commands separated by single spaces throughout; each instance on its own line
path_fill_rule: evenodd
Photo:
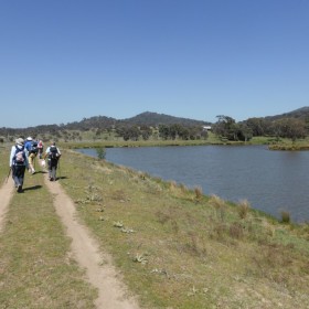
M 61 184 L 142 308 L 309 308 L 308 224 L 62 152 Z M 26 175 L 35 189 L 14 195 L 0 234 L 0 308 L 93 308 L 42 183 Z

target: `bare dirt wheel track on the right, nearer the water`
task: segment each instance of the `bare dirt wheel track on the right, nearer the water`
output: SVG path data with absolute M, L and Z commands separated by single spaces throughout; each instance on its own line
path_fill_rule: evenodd
M 86 269 L 89 283 L 98 289 L 97 308 L 138 309 L 138 302 L 126 295 L 126 287 L 111 264 L 111 257 L 99 253 L 98 244 L 88 230 L 78 223 L 73 201 L 65 194 L 58 181 L 51 182 L 47 175 L 44 182 L 54 195 L 57 215 L 72 238 L 72 253 L 81 267 Z

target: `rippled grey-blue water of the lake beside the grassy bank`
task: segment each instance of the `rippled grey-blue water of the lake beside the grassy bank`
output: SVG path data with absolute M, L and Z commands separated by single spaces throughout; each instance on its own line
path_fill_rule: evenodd
M 79 149 L 97 157 L 95 149 Z M 265 146 L 107 148 L 106 160 L 145 171 L 294 222 L 309 221 L 309 151 L 269 151 Z

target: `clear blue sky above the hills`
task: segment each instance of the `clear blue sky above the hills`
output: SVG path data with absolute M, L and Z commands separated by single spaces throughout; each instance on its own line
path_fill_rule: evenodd
M 308 0 L 0 0 L 0 127 L 309 106 Z

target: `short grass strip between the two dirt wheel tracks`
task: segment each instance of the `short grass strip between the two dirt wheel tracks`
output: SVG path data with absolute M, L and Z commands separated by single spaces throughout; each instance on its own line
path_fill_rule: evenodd
M 2 185 L 9 149 L 0 151 Z M 26 172 L 24 190 L 14 194 L 0 233 L 0 308 L 95 308 L 96 290 L 70 256 L 43 174 Z

